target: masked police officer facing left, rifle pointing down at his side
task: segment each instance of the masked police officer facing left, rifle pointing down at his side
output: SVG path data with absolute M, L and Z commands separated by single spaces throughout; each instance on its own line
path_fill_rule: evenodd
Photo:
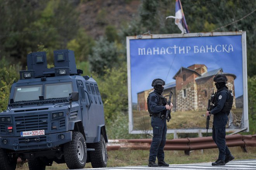
M 218 146 L 218 160 L 211 165 L 225 165 L 235 157 L 230 153 L 226 145 L 226 124 L 228 122 L 228 114 L 233 105 L 233 93 L 228 90 L 226 83 L 228 81 L 224 74 L 218 74 L 213 78 L 218 91 L 211 97 L 211 111 L 207 111 L 206 115 L 214 115 L 213 117 L 213 140 Z

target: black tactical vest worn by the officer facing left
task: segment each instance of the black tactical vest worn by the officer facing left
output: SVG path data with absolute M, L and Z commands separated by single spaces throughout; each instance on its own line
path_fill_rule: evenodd
M 232 109 L 232 106 L 233 106 L 233 100 L 234 100 L 234 95 L 232 93 L 231 90 L 229 89 L 224 89 L 224 90 L 227 90 L 228 91 L 228 96 L 227 96 L 227 99 L 225 101 L 225 105 L 223 106 L 223 108 L 221 109 L 221 112 L 224 112 L 224 113 L 227 113 L 229 115 L 230 113 L 230 110 Z M 213 98 L 211 99 L 211 102 L 216 105 L 217 101 L 218 101 L 218 96 L 217 95 L 218 93 L 215 93 Z

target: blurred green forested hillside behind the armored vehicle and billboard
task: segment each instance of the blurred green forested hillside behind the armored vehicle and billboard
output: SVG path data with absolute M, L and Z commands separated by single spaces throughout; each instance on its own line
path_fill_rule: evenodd
M 250 133 L 256 132 L 256 1 L 182 0 L 190 33 L 246 31 Z M 0 111 L 30 52 L 74 50 L 78 68 L 99 82 L 109 137 L 129 138 L 126 36 L 180 33 L 175 0 L 0 0 Z M 119 131 L 115 131 L 119 129 Z M 140 136 L 137 136 L 140 137 Z

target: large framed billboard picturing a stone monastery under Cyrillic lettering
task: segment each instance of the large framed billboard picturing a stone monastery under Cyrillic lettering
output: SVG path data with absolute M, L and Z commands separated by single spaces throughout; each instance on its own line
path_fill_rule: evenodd
M 173 92 L 167 132 L 206 132 L 216 74 L 227 76 L 234 93 L 226 131 L 249 131 L 245 31 L 128 36 L 126 45 L 130 133 L 152 133 L 147 96 L 156 78 L 166 82 L 163 96 Z

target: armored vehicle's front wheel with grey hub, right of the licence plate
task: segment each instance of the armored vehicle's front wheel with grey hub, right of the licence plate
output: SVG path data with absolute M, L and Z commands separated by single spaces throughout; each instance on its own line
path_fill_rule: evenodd
M 73 132 L 72 141 L 64 144 L 64 159 L 69 169 L 85 167 L 87 150 L 85 138 L 80 132 Z

